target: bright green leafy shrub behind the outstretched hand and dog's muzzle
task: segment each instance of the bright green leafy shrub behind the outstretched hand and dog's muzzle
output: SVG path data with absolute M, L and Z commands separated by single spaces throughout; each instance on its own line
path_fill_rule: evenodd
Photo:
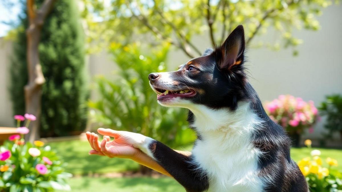
M 115 79 L 97 78 L 99 98 L 89 101 L 89 107 L 96 109 L 92 116 L 107 127 L 141 133 L 170 147 L 192 142 L 195 136 L 187 129 L 186 110 L 158 105 L 149 86 L 148 74 L 166 69 L 168 46 L 157 47 L 150 54 L 138 47 L 111 45 L 119 70 Z

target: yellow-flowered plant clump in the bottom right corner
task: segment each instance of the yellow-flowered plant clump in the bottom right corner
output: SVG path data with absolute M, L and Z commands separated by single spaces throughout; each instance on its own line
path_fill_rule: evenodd
M 311 140 L 305 140 L 305 144 L 311 147 Z M 328 157 L 328 168 L 324 167 L 319 150 L 311 151 L 311 157 L 305 157 L 298 162 L 298 166 L 309 184 L 311 192 L 337 192 L 342 190 L 341 173 L 331 167 L 337 166 L 335 159 Z

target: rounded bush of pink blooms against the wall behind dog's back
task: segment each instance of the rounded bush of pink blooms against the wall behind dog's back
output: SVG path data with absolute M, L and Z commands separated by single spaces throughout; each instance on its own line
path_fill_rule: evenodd
M 303 129 L 310 128 L 318 118 L 318 110 L 313 101 L 305 102 L 300 97 L 280 95 L 278 99 L 265 104 L 269 117 L 286 128 L 289 134 L 302 133 Z

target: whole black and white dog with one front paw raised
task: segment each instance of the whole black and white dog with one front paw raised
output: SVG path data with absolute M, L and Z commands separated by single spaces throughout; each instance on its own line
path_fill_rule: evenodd
M 247 81 L 244 51 L 240 25 L 221 46 L 177 71 L 149 75 L 160 105 L 189 109 L 189 124 L 198 135 L 191 156 L 141 134 L 126 136 L 189 192 L 307 192 L 290 157 L 289 138 Z

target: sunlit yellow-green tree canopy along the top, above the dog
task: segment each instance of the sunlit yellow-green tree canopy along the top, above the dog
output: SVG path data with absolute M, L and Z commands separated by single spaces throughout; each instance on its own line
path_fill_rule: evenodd
M 191 58 L 201 55 L 192 36 L 208 32 L 214 47 L 240 24 L 245 26 L 247 44 L 274 50 L 290 46 L 296 55 L 295 46 L 302 40 L 292 35 L 293 29 L 318 30 L 316 16 L 334 3 L 332 0 L 82 1 L 87 40 L 97 45 L 88 47 L 89 51 L 110 42 L 129 43 L 140 39 L 152 44 L 168 42 Z M 277 36 L 268 42 L 251 43 L 256 35 L 268 30 L 276 30 Z

